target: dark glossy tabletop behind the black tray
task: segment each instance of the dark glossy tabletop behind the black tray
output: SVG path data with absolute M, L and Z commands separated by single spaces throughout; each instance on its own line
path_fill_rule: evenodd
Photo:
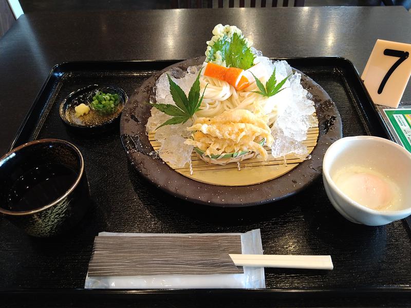
M 266 56 L 338 55 L 351 60 L 360 73 L 377 38 L 411 43 L 411 15 L 403 7 L 191 9 L 22 15 L 0 40 L 0 152 L 7 151 L 54 65 L 66 61 L 189 59 L 203 55 L 206 41 L 212 35 L 211 30 L 218 23 L 237 25 Z M 411 101 L 410 87 L 407 87 L 403 101 Z M 52 294 L 48 294 L 47 298 L 52 298 L 56 305 L 59 302 L 59 298 L 52 297 Z M 99 298 L 97 293 L 95 298 Z M 16 306 L 23 305 L 16 300 L 13 298 L 11 305 L 13 302 Z M 39 302 L 43 300 L 38 299 Z M 338 305 L 336 300 L 324 302 L 311 298 L 308 304 Z M 113 306 L 116 303 L 113 299 L 103 305 Z M 249 299 L 248 303 L 252 304 L 252 301 Z M 278 303 L 292 305 L 292 301 Z M 404 304 L 403 301 L 401 303 Z M 82 304 L 88 306 L 80 295 L 77 305 Z M 124 303 L 126 306 L 134 304 L 133 300 Z M 258 306 L 273 304 L 267 301 Z M 145 305 L 152 304 L 146 302 Z

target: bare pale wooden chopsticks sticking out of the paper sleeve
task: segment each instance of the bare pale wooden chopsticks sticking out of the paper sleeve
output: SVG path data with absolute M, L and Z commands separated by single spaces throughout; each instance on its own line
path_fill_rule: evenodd
M 229 254 L 236 266 L 333 269 L 331 256 L 236 255 Z

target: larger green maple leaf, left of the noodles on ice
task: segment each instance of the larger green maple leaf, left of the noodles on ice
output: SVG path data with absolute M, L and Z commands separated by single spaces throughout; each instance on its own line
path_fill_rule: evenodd
M 204 97 L 204 91 L 206 91 L 204 88 L 200 98 L 200 72 L 191 86 L 188 98 L 186 97 L 184 91 L 170 78 L 170 75 L 167 74 L 170 83 L 170 93 L 173 97 L 173 101 L 176 103 L 176 106 L 171 104 L 150 104 L 161 112 L 173 117 L 170 120 L 165 121 L 156 129 L 159 129 L 164 125 L 185 123 L 193 117 L 194 113 L 200 110 L 201 101 Z

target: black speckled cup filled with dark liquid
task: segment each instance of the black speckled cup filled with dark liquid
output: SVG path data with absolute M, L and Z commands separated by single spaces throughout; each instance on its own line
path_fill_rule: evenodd
M 67 141 L 34 140 L 0 159 L 0 213 L 29 235 L 64 233 L 89 202 L 83 157 Z

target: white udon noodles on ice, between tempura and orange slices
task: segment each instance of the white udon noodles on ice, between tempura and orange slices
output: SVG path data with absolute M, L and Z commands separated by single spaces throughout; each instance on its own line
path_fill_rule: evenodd
M 259 79 L 265 84 L 266 76 Z M 207 88 L 206 88 L 207 85 Z M 204 98 L 201 102 L 201 110 L 196 112 L 196 117 L 214 118 L 222 112 L 230 109 L 246 109 L 255 114 L 267 115 L 267 124 L 271 126 L 277 117 L 277 108 L 274 102 L 253 91 L 259 91 L 256 83 L 237 91 L 232 85 L 208 76 L 200 76 L 201 93 Z

